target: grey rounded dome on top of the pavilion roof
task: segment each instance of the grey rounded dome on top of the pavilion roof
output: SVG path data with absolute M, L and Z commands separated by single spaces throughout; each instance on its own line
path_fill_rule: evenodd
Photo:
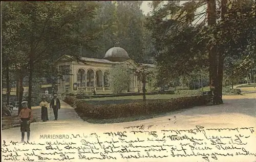
M 130 57 L 125 49 L 119 47 L 118 45 L 115 45 L 114 47 L 110 48 L 108 51 L 106 51 L 104 59 L 113 61 L 113 62 L 121 62 L 129 60 Z

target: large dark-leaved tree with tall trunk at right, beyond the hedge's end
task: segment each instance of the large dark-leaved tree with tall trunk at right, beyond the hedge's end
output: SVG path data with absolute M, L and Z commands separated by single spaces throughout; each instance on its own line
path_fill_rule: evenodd
M 223 103 L 225 57 L 242 56 L 243 68 L 245 64 L 250 66 L 255 58 L 251 43 L 255 40 L 253 2 L 188 1 L 180 4 L 168 1 L 165 5 L 153 2 L 154 10 L 147 26 L 156 39 L 160 77 L 173 79 L 197 68 L 209 67 L 209 85 L 215 96 L 214 101 Z M 207 12 L 196 12 L 200 7 L 207 8 Z

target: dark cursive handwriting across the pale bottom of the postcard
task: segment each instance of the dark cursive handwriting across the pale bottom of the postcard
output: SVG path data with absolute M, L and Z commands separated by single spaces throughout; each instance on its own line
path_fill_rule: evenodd
M 154 125 L 122 131 L 41 134 L 35 141 L 2 140 L 2 161 L 253 161 L 253 127 L 162 129 Z M 157 130 L 157 131 L 156 131 Z M 240 160 L 241 159 L 241 160 Z M 242 160 L 244 159 L 244 160 Z M 247 159 L 247 160 L 245 160 Z

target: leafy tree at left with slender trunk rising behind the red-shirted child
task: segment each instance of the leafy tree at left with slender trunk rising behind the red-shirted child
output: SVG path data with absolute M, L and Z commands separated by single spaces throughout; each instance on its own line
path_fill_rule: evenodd
M 61 55 L 69 53 L 74 59 L 80 58 L 79 47 L 94 49 L 92 40 L 97 29 L 82 28 L 82 23 L 95 15 L 94 2 L 5 2 L 4 24 L 6 35 L 15 33 L 15 46 L 22 53 L 24 63 L 21 70 L 28 70 L 28 102 L 31 107 L 33 75 L 42 64 L 53 65 Z M 9 14 L 9 15 L 8 15 Z M 17 47 L 16 47 L 17 46 Z M 48 64 L 48 65 L 49 65 Z M 23 71 L 20 75 L 24 74 Z M 24 76 L 20 76 L 23 78 Z

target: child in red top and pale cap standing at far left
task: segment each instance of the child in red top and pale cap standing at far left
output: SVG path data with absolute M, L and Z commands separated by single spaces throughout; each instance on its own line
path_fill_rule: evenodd
M 22 132 L 22 142 L 24 142 L 25 131 L 27 132 L 27 139 L 30 138 L 30 123 L 32 121 L 32 110 L 28 109 L 27 101 L 22 102 L 23 109 L 19 113 L 20 131 Z

